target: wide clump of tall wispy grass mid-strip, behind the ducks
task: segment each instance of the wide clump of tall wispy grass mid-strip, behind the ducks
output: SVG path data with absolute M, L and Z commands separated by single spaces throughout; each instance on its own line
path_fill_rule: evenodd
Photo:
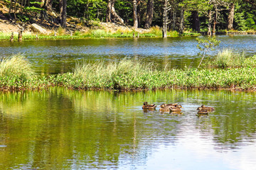
M 82 80 L 81 89 L 146 89 L 153 86 L 148 81 L 154 72 L 156 70 L 151 63 L 123 59 L 118 62 L 78 63 L 73 74 L 76 81 Z

